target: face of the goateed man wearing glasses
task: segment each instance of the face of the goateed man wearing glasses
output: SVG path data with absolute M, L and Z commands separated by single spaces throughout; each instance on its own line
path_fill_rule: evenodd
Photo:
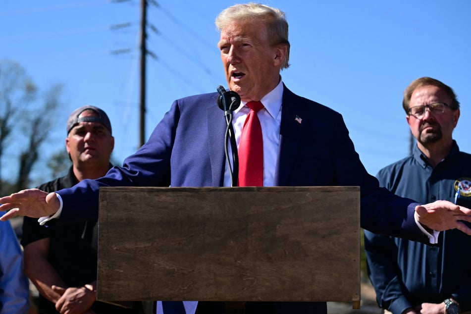
M 433 85 L 425 85 L 414 90 L 409 108 L 433 103 L 451 105 L 451 101 L 452 99 L 445 91 Z M 412 115 L 406 116 L 406 119 L 419 145 L 426 147 L 432 143 L 452 141 L 453 129 L 456 127 L 459 117 L 460 109 L 452 110 L 445 107 L 443 113 L 431 113 L 427 109 L 422 119 L 417 119 Z

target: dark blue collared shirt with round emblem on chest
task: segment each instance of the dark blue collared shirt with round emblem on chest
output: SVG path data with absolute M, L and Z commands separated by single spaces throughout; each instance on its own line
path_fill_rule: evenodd
M 421 203 L 436 200 L 471 208 L 471 155 L 456 142 L 435 167 L 415 148 L 410 157 L 379 171 L 381 186 Z M 376 235 L 365 231 L 368 274 L 380 307 L 393 313 L 421 303 L 455 298 L 462 311 L 471 310 L 471 236 L 453 229 L 441 232 L 437 245 Z

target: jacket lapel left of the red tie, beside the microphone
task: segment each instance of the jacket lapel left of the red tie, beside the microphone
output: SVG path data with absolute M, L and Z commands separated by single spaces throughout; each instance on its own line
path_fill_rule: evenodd
M 224 184 L 224 134 L 226 132 L 226 121 L 224 112 L 217 106 L 207 109 L 208 118 L 208 152 L 211 161 L 211 177 L 213 186 Z

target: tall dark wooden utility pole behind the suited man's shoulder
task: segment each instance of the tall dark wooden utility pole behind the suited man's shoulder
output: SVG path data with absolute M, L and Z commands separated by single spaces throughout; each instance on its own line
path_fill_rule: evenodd
M 141 0 L 141 91 L 140 91 L 140 132 L 139 147 L 146 140 L 146 24 L 147 24 L 147 0 Z

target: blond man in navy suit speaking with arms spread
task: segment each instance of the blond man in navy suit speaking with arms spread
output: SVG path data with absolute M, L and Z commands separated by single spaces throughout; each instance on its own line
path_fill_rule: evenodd
M 218 48 L 229 90 L 242 103 L 234 111 L 233 127 L 240 144 L 249 102 L 261 102 L 257 116 L 262 128 L 264 186 L 361 186 L 361 225 L 373 232 L 436 241 L 437 231 L 471 229 L 470 209 L 437 201 L 420 206 L 378 186 L 366 173 L 342 116 L 292 93 L 280 71 L 288 67 L 288 24 L 284 13 L 261 4 L 237 4 L 216 19 L 221 32 Z M 226 123 L 216 105 L 218 94 L 177 100 L 158 123 L 149 141 L 122 167 L 105 177 L 84 180 L 71 189 L 46 194 L 25 190 L 0 199 L 0 210 L 58 223 L 96 218 L 101 186 L 230 186 L 224 158 Z M 86 211 L 79 210 L 87 208 Z M 433 231 L 436 230 L 436 231 Z M 170 313 L 224 313 L 223 303 L 159 303 Z M 325 303 L 246 303 L 250 313 L 326 313 Z

